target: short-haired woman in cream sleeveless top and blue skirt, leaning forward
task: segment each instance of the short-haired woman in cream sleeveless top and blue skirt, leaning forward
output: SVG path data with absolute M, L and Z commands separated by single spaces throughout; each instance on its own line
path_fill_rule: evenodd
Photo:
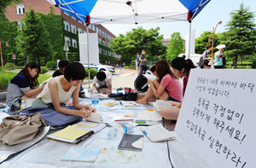
M 79 62 L 69 64 L 64 75 L 51 78 L 44 90 L 33 101 L 32 107 L 26 108 L 20 114 L 41 113 L 47 125 L 68 125 L 87 119 L 96 110 L 79 103 L 79 88 L 86 74 Z M 65 103 L 73 96 L 73 106 Z

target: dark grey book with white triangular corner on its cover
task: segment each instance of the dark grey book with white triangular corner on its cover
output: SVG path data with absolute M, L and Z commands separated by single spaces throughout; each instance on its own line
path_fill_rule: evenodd
M 118 148 L 123 150 L 143 150 L 143 135 L 124 134 Z

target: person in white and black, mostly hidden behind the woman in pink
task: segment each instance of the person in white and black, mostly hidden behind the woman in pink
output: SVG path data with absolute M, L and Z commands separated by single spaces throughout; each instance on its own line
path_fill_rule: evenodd
M 148 90 L 148 78 L 154 80 L 156 77 L 155 66 L 151 67 L 145 72 L 145 74 L 140 74 L 134 81 L 134 87 L 138 91 L 146 92 Z

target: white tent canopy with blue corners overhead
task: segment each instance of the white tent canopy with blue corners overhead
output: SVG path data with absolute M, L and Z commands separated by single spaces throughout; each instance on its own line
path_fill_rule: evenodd
M 210 0 L 48 0 L 90 24 L 145 24 L 193 20 Z

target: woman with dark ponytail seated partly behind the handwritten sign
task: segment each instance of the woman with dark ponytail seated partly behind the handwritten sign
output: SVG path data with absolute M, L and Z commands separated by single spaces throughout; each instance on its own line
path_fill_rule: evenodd
M 190 69 L 195 68 L 194 63 L 188 59 L 185 60 L 183 57 L 177 57 L 171 62 L 172 72 L 177 78 L 183 78 L 183 96 L 187 88 Z M 165 119 L 177 120 L 177 116 L 182 105 L 181 102 L 171 101 L 172 107 L 164 107 L 160 110 L 160 115 Z

